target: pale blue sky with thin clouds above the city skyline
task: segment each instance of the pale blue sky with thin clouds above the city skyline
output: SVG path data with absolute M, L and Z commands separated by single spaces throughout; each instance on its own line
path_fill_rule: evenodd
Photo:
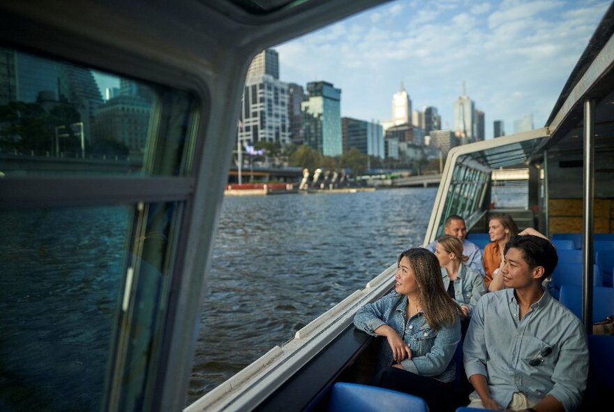
M 506 134 L 532 114 L 546 124 L 608 1 L 397 0 L 274 47 L 280 80 L 341 89 L 341 116 L 384 121 L 403 83 L 414 110 L 434 106 L 453 128 L 462 94 Z

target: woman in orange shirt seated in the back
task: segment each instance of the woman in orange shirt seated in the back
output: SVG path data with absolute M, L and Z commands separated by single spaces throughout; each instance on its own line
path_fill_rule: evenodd
M 484 286 L 488 286 L 503 266 L 503 249 L 509 238 L 518 234 L 518 226 L 509 214 L 494 214 L 488 221 L 491 243 L 484 247 Z

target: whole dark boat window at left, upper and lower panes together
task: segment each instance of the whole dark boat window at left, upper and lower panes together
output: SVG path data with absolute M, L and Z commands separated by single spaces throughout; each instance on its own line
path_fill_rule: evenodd
M 0 409 L 155 409 L 199 110 L 0 48 Z

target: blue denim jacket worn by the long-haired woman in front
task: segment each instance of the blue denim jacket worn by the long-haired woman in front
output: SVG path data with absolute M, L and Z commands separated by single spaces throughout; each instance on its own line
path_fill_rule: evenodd
M 454 325 L 431 329 L 424 313 L 419 312 L 410 319 L 407 314 L 407 296 L 393 292 L 374 303 L 361 307 L 354 316 L 354 325 L 364 332 L 377 336 L 375 330 L 389 325 L 410 346 L 412 359 L 400 362 L 403 369 L 423 376 L 431 376 L 438 381 L 451 382 L 456 376 L 456 364 L 452 359 L 456 345 L 461 340 L 460 315 Z M 388 367 L 393 364 L 392 351 L 387 339 L 380 342 L 377 366 Z

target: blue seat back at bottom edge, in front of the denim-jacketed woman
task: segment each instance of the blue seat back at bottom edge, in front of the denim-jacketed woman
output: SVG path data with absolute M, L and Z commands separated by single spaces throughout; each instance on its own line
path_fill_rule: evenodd
M 337 382 L 331 389 L 329 412 L 412 411 L 428 412 L 424 399 L 396 390 Z

